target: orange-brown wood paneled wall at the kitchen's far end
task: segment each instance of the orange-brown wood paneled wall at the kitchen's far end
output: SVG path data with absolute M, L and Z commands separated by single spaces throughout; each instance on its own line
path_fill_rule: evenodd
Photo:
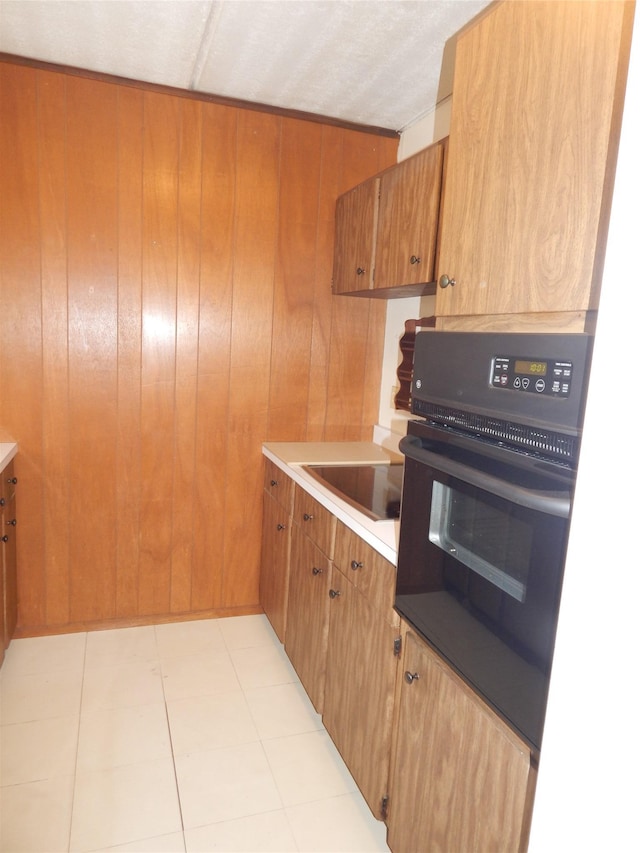
M 0 62 L 19 632 L 259 612 L 264 440 L 369 439 L 339 193 L 397 141 Z

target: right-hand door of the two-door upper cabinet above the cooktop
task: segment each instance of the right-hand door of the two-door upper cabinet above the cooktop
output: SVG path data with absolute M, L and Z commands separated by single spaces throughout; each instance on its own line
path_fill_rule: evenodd
M 376 290 L 434 280 L 442 161 L 439 143 L 380 177 Z

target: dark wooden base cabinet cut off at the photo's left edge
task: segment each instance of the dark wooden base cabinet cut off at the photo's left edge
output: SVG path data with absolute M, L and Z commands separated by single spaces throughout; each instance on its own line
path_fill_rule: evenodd
M 2 488 L 0 489 L 0 534 L 2 556 L 2 589 L 0 592 L 2 605 L 0 631 L 1 648 L 0 662 L 13 637 L 18 621 L 18 579 L 16 559 L 16 483 L 14 464 L 10 462 L 2 472 Z

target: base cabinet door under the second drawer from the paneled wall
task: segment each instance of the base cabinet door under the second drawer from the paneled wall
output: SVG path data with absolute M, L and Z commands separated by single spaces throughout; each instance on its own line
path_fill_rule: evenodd
M 293 525 L 285 650 L 316 711 L 324 702 L 331 562 Z

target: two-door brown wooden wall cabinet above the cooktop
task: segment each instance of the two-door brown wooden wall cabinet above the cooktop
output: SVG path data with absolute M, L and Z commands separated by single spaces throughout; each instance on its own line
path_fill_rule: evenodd
M 340 196 L 334 293 L 391 298 L 429 292 L 443 151 L 443 143 L 432 145 Z

